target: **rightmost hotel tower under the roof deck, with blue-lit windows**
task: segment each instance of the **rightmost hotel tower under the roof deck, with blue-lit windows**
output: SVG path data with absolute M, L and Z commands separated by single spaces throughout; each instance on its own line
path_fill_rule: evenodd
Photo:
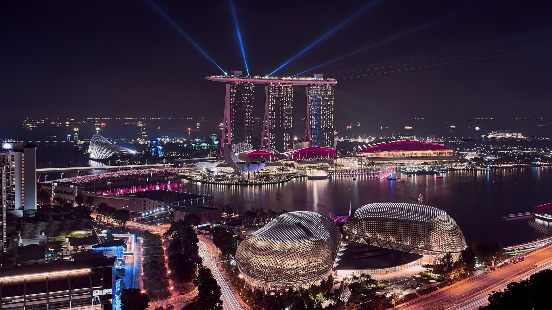
M 311 146 L 333 147 L 333 85 L 307 87 Z

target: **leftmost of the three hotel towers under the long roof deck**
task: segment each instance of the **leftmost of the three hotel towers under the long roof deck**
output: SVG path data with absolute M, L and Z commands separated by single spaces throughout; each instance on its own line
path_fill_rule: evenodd
M 227 103 L 224 111 L 224 128 L 222 129 L 226 139 L 224 140 L 225 143 L 228 143 L 228 135 L 230 135 L 232 144 L 238 142 L 251 143 L 253 133 L 253 88 L 253 83 L 248 82 L 226 84 Z

